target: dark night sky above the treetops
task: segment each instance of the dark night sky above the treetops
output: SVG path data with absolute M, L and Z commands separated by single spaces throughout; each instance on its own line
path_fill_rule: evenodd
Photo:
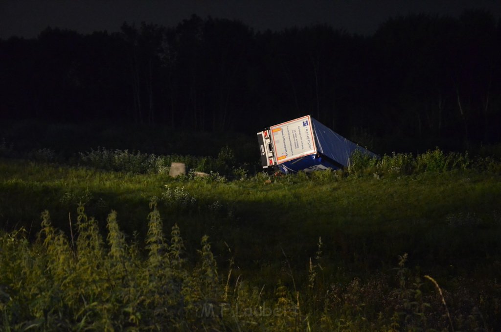
M 124 21 L 169 27 L 191 14 L 236 19 L 255 30 L 327 23 L 367 35 L 390 16 L 457 16 L 471 8 L 501 17 L 501 0 L 0 0 L 0 38 L 32 38 L 48 26 L 114 32 Z

